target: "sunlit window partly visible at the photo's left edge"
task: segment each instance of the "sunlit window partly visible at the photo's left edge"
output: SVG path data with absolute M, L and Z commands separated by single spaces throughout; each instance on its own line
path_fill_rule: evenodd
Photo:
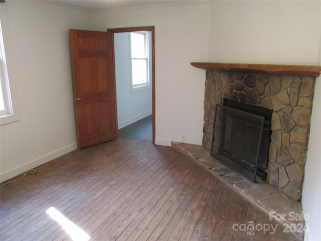
M 0 23 L 0 121 L 1 125 L 19 121 L 17 106 L 12 101 L 12 89 L 9 85 L 7 60 L 5 55 L 3 31 Z M 15 115 L 14 115 L 15 109 Z

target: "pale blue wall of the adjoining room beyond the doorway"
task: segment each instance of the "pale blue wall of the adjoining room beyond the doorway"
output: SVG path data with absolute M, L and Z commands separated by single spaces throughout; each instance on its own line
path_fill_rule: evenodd
M 150 44 L 149 47 L 149 52 L 151 53 Z M 143 89 L 131 91 L 129 33 L 114 34 L 114 49 L 117 116 L 118 129 L 120 129 L 152 113 L 151 82 L 148 88 L 143 87 Z M 149 66 L 151 69 L 151 64 Z M 151 81 L 151 72 L 149 79 Z

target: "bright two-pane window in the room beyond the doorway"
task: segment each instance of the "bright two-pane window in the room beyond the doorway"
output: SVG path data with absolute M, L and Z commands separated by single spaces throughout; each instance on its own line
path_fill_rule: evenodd
M 149 86 L 148 33 L 132 32 L 130 37 L 131 87 Z

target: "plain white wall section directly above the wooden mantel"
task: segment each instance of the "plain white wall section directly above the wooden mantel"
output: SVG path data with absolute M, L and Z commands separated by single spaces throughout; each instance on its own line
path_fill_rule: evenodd
M 320 1 L 214 1 L 210 61 L 316 65 Z

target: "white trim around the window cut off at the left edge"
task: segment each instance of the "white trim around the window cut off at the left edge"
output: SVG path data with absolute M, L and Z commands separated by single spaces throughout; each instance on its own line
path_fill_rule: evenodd
M 2 21 L 0 23 L 0 37 L 2 38 L 2 50 L 3 56 L 5 58 L 5 61 L 3 61 L 1 64 L 2 68 L 2 79 L 6 81 L 3 87 L 7 88 L 7 100 L 10 101 L 11 98 L 11 106 L 9 108 L 9 114 L 0 116 L 0 125 L 5 125 L 13 122 L 17 122 L 20 120 L 19 115 L 19 107 L 18 107 L 18 96 L 16 92 L 16 85 L 15 85 L 15 78 L 14 78 L 14 70 L 13 70 L 13 63 L 12 63 L 12 54 L 11 54 L 11 45 L 9 40 L 9 30 L 7 27 L 1 28 L 3 26 L 3 20 L 6 22 L 6 18 L 2 18 Z M 5 54 L 5 47 L 6 46 L 6 54 Z M 5 96 L 4 96 L 5 97 Z

